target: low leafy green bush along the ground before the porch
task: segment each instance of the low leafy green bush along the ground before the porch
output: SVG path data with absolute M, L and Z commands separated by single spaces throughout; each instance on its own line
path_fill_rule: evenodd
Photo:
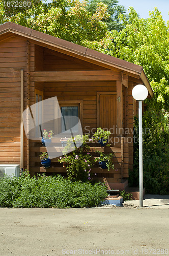
M 31 178 L 23 174 L 0 180 L 0 207 L 95 207 L 106 196 L 106 186 L 101 182 L 72 182 L 61 175 Z

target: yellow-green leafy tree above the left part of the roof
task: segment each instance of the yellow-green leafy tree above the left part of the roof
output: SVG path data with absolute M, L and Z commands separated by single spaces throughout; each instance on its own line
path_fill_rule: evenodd
M 102 3 L 94 13 L 86 6 L 87 2 L 78 0 L 53 0 L 52 3 L 34 0 L 31 8 L 13 11 L 1 3 L 0 20 L 1 24 L 11 21 L 81 45 L 83 40 L 100 40 L 105 36 L 107 26 L 102 20 L 109 16 L 107 6 Z

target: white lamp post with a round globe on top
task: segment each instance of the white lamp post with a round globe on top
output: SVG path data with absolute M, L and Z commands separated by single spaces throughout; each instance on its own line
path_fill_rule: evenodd
M 148 90 L 143 84 L 137 84 L 132 90 L 133 98 L 138 101 L 139 126 L 139 207 L 143 207 L 143 134 L 142 134 L 142 101 L 148 96 Z

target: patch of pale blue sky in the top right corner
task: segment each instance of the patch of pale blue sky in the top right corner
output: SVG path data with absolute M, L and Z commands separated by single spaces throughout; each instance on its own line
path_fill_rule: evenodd
M 169 0 L 118 0 L 118 5 L 123 5 L 127 10 L 132 6 L 140 18 L 148 18 L 149 11 L 157 7 L 165 22 L 169 20 Z

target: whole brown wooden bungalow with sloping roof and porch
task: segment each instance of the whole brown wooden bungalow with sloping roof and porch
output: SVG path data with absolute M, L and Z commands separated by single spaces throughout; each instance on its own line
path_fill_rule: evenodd
M 97 127 L 111 131 L 111 146 L 100 150 L 115 153 L 115 169 L 106 173 L 95 166 L 92 171 L 118 188 L 133 165 L 136 102 L 131 91 L 136 84 L 144 84 L 153 97 L 140 66 L 11 22 L 1 25 L 0 164 L 20 164 L 31 175 L 66 174 L 57 159 L 51 168 L 41 167 L 39 154 L 46 149 L 40 140 L 26 138 L 22 123 L 23 110 L 36 98 L 57 96 L 63 106 L 78 106 L 84 134 Z

